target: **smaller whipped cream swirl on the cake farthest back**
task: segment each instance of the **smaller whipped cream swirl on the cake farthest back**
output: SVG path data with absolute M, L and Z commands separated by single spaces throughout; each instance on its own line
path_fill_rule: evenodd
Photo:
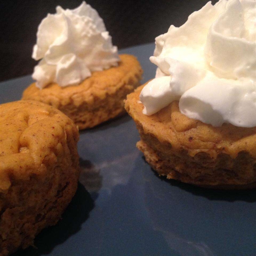
M 39 88 L 51 82 L 63 87 L 80 84 L 93 71 L 119 61 L 102 18 L 85 2 L 73 10 L 57 6 L 55 14 L 41 21 L 32 58 L 41 60 L 32 75 Z

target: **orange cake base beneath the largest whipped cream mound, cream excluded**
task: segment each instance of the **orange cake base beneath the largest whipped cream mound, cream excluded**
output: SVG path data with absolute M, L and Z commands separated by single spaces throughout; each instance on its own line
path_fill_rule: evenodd
M 125 109 L 140 133 L 137 148 L 159 175 L 218 189 L 256 187 L 256 127 L 212 127 L 181 114 L 178 102 L 146 116 L 143 87 L 127 96 Z

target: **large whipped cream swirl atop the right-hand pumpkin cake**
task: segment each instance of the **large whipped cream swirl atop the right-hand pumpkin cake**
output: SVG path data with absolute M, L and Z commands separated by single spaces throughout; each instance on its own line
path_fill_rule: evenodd
M 256 0 L 208 2 L 156 38 L 155 79 L 140 94 L 151 115 L 180 112 L 213 126 L 256 126 Z

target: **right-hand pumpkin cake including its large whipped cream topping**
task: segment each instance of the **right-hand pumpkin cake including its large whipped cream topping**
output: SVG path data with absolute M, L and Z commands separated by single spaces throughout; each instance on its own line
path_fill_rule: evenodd
M 156 77 L 125 108 L 140 132 L 137 147 L 160 175 L 256 187 L 255 9 L 254 0 L 209 2 L 156 38 Z

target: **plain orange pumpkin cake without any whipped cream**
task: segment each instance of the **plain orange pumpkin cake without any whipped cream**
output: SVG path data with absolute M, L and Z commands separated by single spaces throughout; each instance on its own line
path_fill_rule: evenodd
M 0 105 L 0 256 L 33 244 L 76 192 L 76 125 L 41 102 Z

